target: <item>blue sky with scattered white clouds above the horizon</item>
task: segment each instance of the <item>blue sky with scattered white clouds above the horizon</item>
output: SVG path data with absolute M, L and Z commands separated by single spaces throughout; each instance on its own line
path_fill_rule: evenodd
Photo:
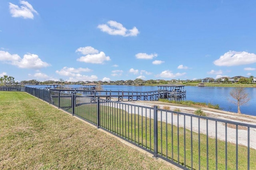
M 256 76 L 255 0 L 1 0 L 0 76 Z

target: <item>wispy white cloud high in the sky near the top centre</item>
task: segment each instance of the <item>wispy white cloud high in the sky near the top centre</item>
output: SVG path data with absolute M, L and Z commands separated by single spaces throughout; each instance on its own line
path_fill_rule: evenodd
M 98 25 L 98 28 L 106 32 L 110 35 L 122 35 L 124 37 L 128 36 L 137 36 L 139 33 L 138 29 L 136 27 L 133 27 L 132 29 L 126 29 L 121 23 L 118 23 L 116 21 L 108 21 L 107 24 L 100 24 Z

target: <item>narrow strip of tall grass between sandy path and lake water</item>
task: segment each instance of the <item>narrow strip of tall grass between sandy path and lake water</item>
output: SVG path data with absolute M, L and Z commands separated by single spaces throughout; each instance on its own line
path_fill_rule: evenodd
M 159 99 L 160 102 L 165 102 L 165 103 L 172 103 L 172 104 L 183 104 L 186 106 L 199 106 L 199 107 L 208 107 L 212 109 L 220 109 L 219 105 L 212 105 L 210 103 L 205 103 L 205 102 L 193 102 L 191 100 L 184 100 L 184 101 L 175 101 L 175 100 L 167 100 L 167 99 Z

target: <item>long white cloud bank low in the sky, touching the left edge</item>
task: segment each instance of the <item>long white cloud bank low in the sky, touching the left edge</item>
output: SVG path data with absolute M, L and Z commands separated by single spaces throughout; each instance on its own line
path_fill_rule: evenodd
M 43 62 L 39 59 L 38 55 L 26 54 L 21 58 L 19 55 L 11 55 L 6 51 L 0 51 L 0 61 L 10 61 L 8 64 L 18 66 L 19 68 L 34 68 L 39 69 L 43 67 L 50 66 L 50 64 Z

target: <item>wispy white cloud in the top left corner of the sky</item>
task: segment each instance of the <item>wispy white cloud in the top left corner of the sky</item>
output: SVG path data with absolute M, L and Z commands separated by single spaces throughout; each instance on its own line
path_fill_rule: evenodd
M 29 4 L 27 1 L 21 0 L 20 4 L 21 6 L 19 7 L 18 5 L 9 2 L 9 9 L 10 13 L 12 14 L 12 17 L 23 17 L 24 19 L 33 19 L 34 14 L 38 14 L 38 12 L 34 10 L 32 5 Z

